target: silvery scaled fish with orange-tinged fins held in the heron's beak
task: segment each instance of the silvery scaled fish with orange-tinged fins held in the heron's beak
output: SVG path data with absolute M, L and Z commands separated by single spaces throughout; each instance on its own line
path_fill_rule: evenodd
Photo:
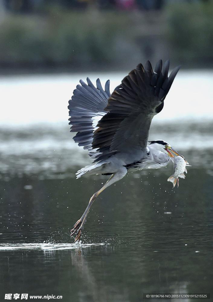
M 175 156 L 173 159 L 174 163 L 174 173 L 171 175 L 167 182 L 172 182 L 173 188 L 177 185 L 179 187 L 179 177 L 185 179 L 185 173 L 187 173 L 186 165 L 189 166 L 189 163 L 185 160 L 183 156 Z

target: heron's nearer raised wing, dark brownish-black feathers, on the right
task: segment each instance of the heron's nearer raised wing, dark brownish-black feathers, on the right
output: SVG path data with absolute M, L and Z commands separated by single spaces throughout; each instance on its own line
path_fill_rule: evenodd
M 116 87 L 98 122 L 92 140 L 92 148 L 101 153 L 95 161 L 115 152 L 132 153 L 147 146 L 150 124 L 155 114 L 163 109 L 163 101 L 169 92 L 179 67 L 168 77 L 169 60 L 162 68 L 158 61 L 153 71 L 149 61 L 145 67 L 139 64 Z

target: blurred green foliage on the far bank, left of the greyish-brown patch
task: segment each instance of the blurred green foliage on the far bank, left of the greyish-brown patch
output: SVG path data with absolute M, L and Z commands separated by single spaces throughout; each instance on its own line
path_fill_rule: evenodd
M 125 13 L 124 13 L 125 14 Z M 123 14 L 53 11 L 45 16 L 11 15 L 0 27 L 2 66 L 113 65 L 121 62 L 128 24 Z M 131 37 L 130 37 L 131 40 Z

